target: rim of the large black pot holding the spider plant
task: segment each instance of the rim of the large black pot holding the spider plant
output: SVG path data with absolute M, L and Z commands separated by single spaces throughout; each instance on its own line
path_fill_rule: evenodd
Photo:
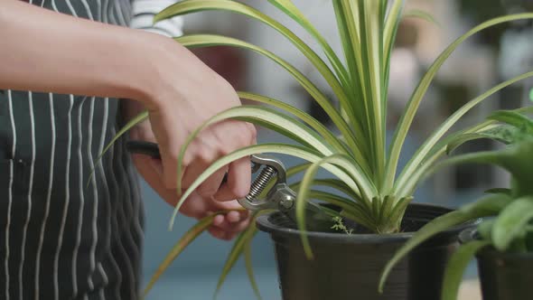
M 411 203 L 409 204 L 409 207 L 416 206 L 421 208 L 434 208 L 436 210 L 446 210 L 446 211 L 454 211 L 449 208 L 446 208 L 444 206 L 439 205 L 433 205 L 433 204 L 421 204 L 421 203 Z M 282 237 L 300 237 L 300 230 L 290 229 L 286 228 L 284 226 L 276 225 L 272 223 L 269 220 L 269 217 L 275 213 L 279 213 L 278 211 L 274 211 L 262 216 L 259 216 L 257 218 L 257 228 L 259 230 L 265 231 L 270 234 L 275 234 L 276 236 L 282 236 Z M 463 223 L 461 225 L 456 225 L 454 227 L 449 228 L 448 230 L 444 230 L 443 232 L 435 235 L 437 236 L 451 236 L 451 235 L 457 235 L 458 233 L 471 228 L 474 225 L 477 225 L 481 222 L 481 219 L 475 219 L 470 220 L 466 223 Z M 336 243 L 339 242 L 357 242 L 357 243 L 375 243 L 376 240 L 379 240 L 380 242 L 401 242 L 405 241 L 407 239 L 410 239 L 413 237 L 416 231 L 411 232 L 400 232 L 400 233 L 387 233 L 387 234 L 378 234 L 378 233 L 356 233 L 356 234 L 345 234 L 345 233 L 336 233 L 336 232 L 319 232 L 319 231 L 307 231 L 307 237 L 310 240 L 313 239 L 320 239 L 322 241 L 324 240 L 331 240 L 335 241 Z M 433 237 L 433 238 L 435 238 Z M 433 239 L 432 238 L 432 239 Z

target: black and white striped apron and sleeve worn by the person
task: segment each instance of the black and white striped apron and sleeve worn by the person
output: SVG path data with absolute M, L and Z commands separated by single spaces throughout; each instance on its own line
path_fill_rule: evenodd
M 33 5 L 181 34 L 180 20 L 151 27 L 151 15 L 172 0 L 144 2 L 135 13 L 130 0 Z M 138 298 L 143 205 L 124 139 L 95 162 L 117 131 L 119 106 L 113 98 L 0 93 L 0 299 Z

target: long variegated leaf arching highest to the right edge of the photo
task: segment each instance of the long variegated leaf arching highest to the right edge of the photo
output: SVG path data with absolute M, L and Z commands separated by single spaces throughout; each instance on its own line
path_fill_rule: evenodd
M 474 27 L 468 33 L 464 33 L 461 37 L 455 40 L 455 42 L 453 42 L 450 46 L 448 46 L 444 50 L 444 52 L 435 60 L 433 65 L 425 73 L 422 80 L 420 80 L 420 83 L 415 89 L 413 96 L 410 98 L 409 102 L 407 103 L 406 110 L 404 111 L 404 113 L 402 114 L 402 117 L 400 118 L 396 132 L 391 141 L 391 144 L 390 144 L 391 146 L 390 146 L 389 155 L 388 155 L 389 159 L 388 159 L 388 168 L 387 168 L 387 173 L 386 173 L 387 174 L 386 186 L 392 186 L 392 183 L 394 182 L 399 155 L 400 155 L 402 146 L 405 142 L 409 127 L 411 127 L 413 119 L 416 115 L 416 111 L 418 110 L 418 107 L 422 99 L 425 96 L 425 92 L 429 88 L 429 85 L 431 84 L 432 80 L 435 78 L 436 72 L 444 64 L 444 61 L 446 61 L 447 58 L 454 52 L 454 50 L 459 45 L 461 45 L 466 39 L 468 39 L 470 36 L 472 36 L 475 33 L 479 33 L 483 29 L 490 28 L 491 26 L 494 26 L 500 23 L 507 23 L 507 22 L 512 22 L 512 21 L 532 19 L 532 18 L 533 18 L 533 14 L 511 14 L 511 15 L 506 15 L 506 16 L 491 19 L 485 23 L 482 23 Z

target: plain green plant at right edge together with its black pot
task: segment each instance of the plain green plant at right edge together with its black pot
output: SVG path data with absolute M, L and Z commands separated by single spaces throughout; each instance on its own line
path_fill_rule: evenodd
M 533 100 L 533 90 L 532 90 Z M 510 189 L 493 189 L 490 195 L 429 222 L 400 248 L 388 264 L 394 265 L 410 248 L 464 220 L 493 217 L 476 230 L 464 230 L 463 245 L 450 259 L 444 276 L 442 300 L 457 297 L 463 272 L 477 256 L 482 295 L 485 300 L 531 298 L 533 282 L 533 120 L 519 111 L 500 111 L 489 119 L 503 123 L 485 132 L 465 135 L 448 145 L 449 151 L 472 139 L 491 138 L 507 146 L 503 150 L 458 155 L 440 165 L 493 164 L 511 175 Z M 385 278 L 384 278 L 385 279 Z

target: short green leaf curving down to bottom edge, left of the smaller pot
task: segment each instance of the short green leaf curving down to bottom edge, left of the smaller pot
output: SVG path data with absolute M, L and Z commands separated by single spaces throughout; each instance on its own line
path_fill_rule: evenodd
M 474 257 L 474 255 L 484 247 L 490 245 L 490 242 L 483 240 L 474 240 L 464 244 L 452 255 L 446 270 L 444 272 L 444 283 L 442 289 L 442 300 L 456 300 L 459 292 L 459 286 L 463 279 L 464 270 Z

